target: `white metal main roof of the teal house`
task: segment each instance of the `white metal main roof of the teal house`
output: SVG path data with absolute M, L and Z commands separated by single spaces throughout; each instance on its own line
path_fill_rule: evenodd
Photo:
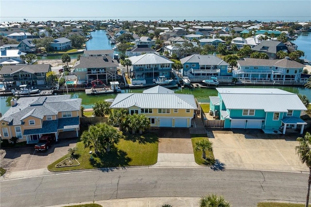
M 307 110 L 297 94 L 277 88 L 216 88 L 227 109 Z

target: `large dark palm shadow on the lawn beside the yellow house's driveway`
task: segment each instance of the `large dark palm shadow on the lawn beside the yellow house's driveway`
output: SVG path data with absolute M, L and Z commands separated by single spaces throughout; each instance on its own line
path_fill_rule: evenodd
M 111 149 L 108 153 L 93 153 L 90 158 L 90 163 L 96 168 L 127 167 L 130 161 L 132 159 L 127 156 L 127 153 L 117 148 Z

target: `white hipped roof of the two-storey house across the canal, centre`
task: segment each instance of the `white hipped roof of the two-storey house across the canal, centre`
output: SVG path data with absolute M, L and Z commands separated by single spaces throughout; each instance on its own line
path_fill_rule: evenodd
M 129 57 L 133 65 L 146 65 L 146 64 L 165 64 L 165 63 L 174 63 L 168 58 L 155 54 L 147 53 L 138 56 Z

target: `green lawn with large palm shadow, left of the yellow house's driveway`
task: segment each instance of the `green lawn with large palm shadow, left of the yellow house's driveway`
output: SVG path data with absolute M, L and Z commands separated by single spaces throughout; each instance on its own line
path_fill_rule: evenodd
M 140 136 L 126 136 L 120 142 L 113 146 L 111 151 L 102 155 L 96 155 L 94 152 L 90 155 L 89 151 L 94 149 L 85 148 L 82 142 L 78 142 L 77 153 L 79 166 L 56 168 L 55 165 L 69 155 L 56 160 L 48 166 L 52 172 L 84 170 L 94 168 L 126 167 L 126 166 L 148 166 L 157 161 L 158 138 L 153 133 L 147 133 Z

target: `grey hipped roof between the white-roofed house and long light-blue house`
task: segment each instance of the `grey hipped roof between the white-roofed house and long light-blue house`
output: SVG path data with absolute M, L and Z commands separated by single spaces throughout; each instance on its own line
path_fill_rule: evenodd
M 200 54 L 192 54 L 188 57 L 184 57 L 180 59 L 181 64 L 185 63 L 199 63 L 200 65 L 216 65 L 216 66 L 228 66 L 221 58 L 215 55 L 200 55 Z

